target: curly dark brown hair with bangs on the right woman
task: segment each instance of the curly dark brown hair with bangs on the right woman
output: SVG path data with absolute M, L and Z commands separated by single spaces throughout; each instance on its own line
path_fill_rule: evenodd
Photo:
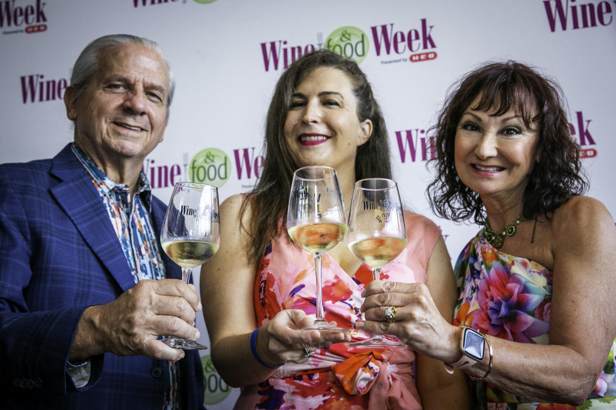
M 586 191 L 588 182 L 580 163 L 580 146 L 571 136 L 563 108 L 565 98 L 556 81 L 517 61 L 486 63 L 463 76 L 447 95 L 436 125 L 428 131 L 435 137 L 432 149 L 436 157 L 429 161 L 435 176 L 426 195 L 437 215 L 456 222 L 471 218 L 477 224 L 485 221 L 479 195 L 460 181 L 454 163 L 458 123 L 479 96 L 472 109 L 493 109 L 492 115 L 500 116 L 513 108 L 526 127 L 538 127 L 540 160 L 530 173 L 522 198 L 525 218 L 549 218 L 570 197 Z

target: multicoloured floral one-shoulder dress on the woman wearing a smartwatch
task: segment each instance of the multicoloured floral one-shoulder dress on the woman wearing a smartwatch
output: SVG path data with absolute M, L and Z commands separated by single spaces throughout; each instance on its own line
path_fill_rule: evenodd
M 552 271 L 537 262 L 496 250 L 483 237 L 466 245 L 456 262 L 460 298 L 454 325 L 480 329 L 483 333 L 514 342 L 549 344 Z M 594 391 L 578 410 L 616 409 L 616 377 L 612 344 L 607 363 Z M 476 382 L 480 402 L 488 410 L 573 410 L 575 406 L 527 403 L 485 382 Z

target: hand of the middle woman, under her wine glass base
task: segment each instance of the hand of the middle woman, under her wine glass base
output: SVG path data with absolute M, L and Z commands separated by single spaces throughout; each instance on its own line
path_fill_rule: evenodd
M 351 341 L 350 334 L 341 331 L 300 330 L 312 326 L 312 323 L 314 318 L 299 309 L 278 312 L 259 331 L 257 336 L 259 355 L 261 355 L 260 346 L 267 345 L 267 352 L 263 349 L 266 363 L 272 365 L 285 361 L 303 363 L 309 359 L 304 357 L 306 353 L 304 348 L 314 351 L 330 344 Z M 336 323 L 331 322 L 331 324 Z M 264 341 L 264 344 L 259 344 L 259 341 Z

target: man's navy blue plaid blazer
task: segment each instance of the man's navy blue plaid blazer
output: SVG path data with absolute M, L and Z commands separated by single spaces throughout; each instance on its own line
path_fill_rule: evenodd
M 165 210 L 152 197 L 159 234 Z M 161 254 L 167 276 L 180 279 Z M 0 408 L 162 408 L 161 361 L 105 353 L 81 389 L 65 372 L 83 310 L 132 286 L 105 205 L 70 144 L 53 159 L 0 165 Z M 186 353 L 176 362 L 184 408 L 201 409 L 203 370 L 198 353 Z

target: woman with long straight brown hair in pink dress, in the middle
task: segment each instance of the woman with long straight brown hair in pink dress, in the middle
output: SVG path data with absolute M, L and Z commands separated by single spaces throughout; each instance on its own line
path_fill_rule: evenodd
M 361 317 L 370 267 L 346 239 L 323 254 L 325 318 L 350 329 L 302 331 L 315 312 L 314 257 L 286 230 L 294 170 L 335 168 L 347 206 L 355 181 L 391 178 L 387 131 L 365 74 L 325 50 L 294 61 L 280 76 L 265 125 L 265 162 L 253 191 L 221 205 L 221 247 L 202 268 L 201 296 L 212 360 L 232 386 L 237 409 L 465 409 L 463 373 L 413 350 L 363 350 L 346 341 L 370 334 Z M 407 246 L 383 272 L 422 282 L 437 312 L 452 320 L 456 290 L 440 229 L 404 212 Z

